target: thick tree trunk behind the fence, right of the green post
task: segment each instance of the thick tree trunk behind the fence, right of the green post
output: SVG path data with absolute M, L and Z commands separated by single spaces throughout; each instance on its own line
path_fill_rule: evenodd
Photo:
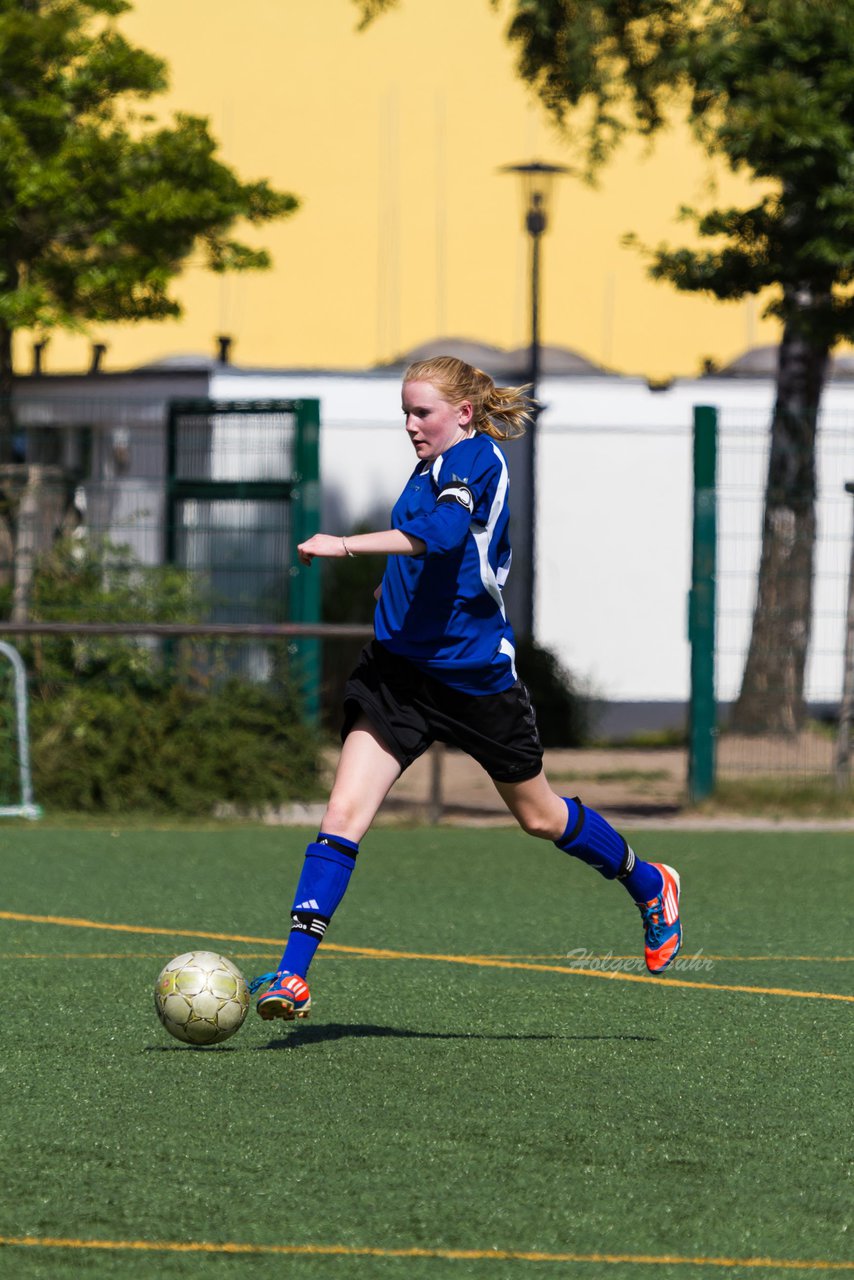
M 803 306 L 802 294 L 802 306 Z M 816 431 L 827 343 L 796 311 L 780 344 L 753 632 L 730 728 L 796 733 L 805 718 L 816 547 Z

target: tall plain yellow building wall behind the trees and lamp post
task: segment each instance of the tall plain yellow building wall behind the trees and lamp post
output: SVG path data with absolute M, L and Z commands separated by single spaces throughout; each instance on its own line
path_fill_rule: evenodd
M 504 14 L 488 0 L 401 0 L 366 32 L 351 0 L 137 0 L 128 36 L 163 55 L 160 113 L 210 118 L 224 159 L 302 200 L 246 238 L 274 269 L 177 283 L 183 320 L 101 326 L 108 369 L 214 349 L 239 364 L 361 367 L 428 338 L 528 340 L 528 243 L 508 163 L 577 157 L 517 81 Z M 636 232 L 685 238 L 708 161 L 684 131 L 632 141 L 598 189 L 563 178 L 544 242 L 543 340 L 650 378 L 694 374 L 775 342 L 755 302 L 722 305 L 647 279 Z M 718 193 L 744 198 L 723 177 Z M 83 369 L 88 340 L 56 335 L 47 367 Z M 27 343 L 18 366 L 28 367 Z

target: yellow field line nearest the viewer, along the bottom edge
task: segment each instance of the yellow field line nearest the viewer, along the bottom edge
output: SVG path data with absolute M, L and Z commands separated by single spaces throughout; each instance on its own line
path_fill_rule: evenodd
M 77 1240 L 49 1235 L 0 1235 L 0 1245 L 40 1249 L 124 1249 L 142 1253 L 224 1253 L 275 1254 L 279 1257 L 350 1257 L 350 1258 L 443 1258 L 446 1261 L 495 1262 L 604 1262 L 636 1266 L 689 1267 L 753 1267 L 781 1271 L 854 1271 L 854 1262 L 830 1262 L 822 1258 L 725 1258 L 691 1257 L 679 1253 L 543 1253 L 524 1249 L 380 1249 L 351 1244 L 239 1244 L 227 1240 L 211 1244 L 202 1240 Z

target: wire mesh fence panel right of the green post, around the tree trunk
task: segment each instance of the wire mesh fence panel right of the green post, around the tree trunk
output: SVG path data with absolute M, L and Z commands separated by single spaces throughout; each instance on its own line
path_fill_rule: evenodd
M 700 413 L 704 411 L 699 411 Z M 844 698 L 846 609 L 851 556 L 854 416 L 830 404 L 821 415 L 816 447 L 816 529 L 812 572 L 804 557 L 781 571 L 772 596 L 772 623 L 764 654 L 767 678 L 750 700 L 749 722 L 737 714 L 745 659 L 758 598 L 763 504 L 768 474 L 767 411 L 746 407 L 717 413 L 717 618 L 716 694 L 718 703 L 716 771 L 718 781 L 834 778 L 840 704 Z M 794 536 L 794 534 L 793 534 Z M 789 572 L 789 580 L 784 573 Z M 794 576 L 798 580 L 794 581 Z M 796 588 L 796 590 L 791 590 Z M 791 600 L 809 599 L 804 622 L 807 663 L 803 700 L 790 687 L 785 657 Z M 789 612 L 791 609 L 791 612 Z M 776 632 L 776 634 L 775 634 Z M 776 637 L 778 635 L 778 639 Z M 784 675 L 778 675 L 782 672 Z M 791 730 L 781 730 L 780 708 L 794 707 Z

